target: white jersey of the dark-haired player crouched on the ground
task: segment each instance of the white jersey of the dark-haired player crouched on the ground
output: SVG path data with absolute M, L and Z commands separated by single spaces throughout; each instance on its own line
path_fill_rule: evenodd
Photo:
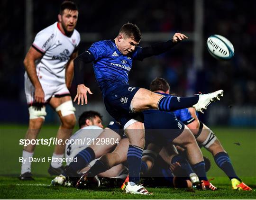
M 66 158 L 73 158 L 75 155 L 77 155 L 80 151 L 85 149 L 90 145 L 90 143 L 96 144 L 95 139 L 100 136 L 102 133 L 103 128 L 98 126 L 89 126 L 89 127 L 83 127 L 76 131 L 73 136 L 69 138 L 69 143 L 66 144 L 65 148 L 65 157 Z M 69 164 L 69 161 L 67 161 L 67 165 Z

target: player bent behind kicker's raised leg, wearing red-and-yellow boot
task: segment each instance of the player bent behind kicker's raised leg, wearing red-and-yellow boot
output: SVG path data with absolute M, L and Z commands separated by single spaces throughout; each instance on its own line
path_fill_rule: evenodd
M 165 79 L 156 78 L 150 84 L 150 91 L 169 94 L 170 86 L 168 82 L 165 81 Z M 210 151 L 217 166 L 229 177 L 233 190 L 252 190 L 238 177 L 232 166 L 229 155 L 222 147 L 219 139 L 215 136 L 209 127 L 207 127 L 198 119 L 195 109 L 179 109 L 175 110 L 174 113 L 179 120 L 181 120 L 188 128 L 190 128 L 196 137 L 198 145 Z M 165 151 L 165 155 L 168 155 L 166 152 L 167 151 Z

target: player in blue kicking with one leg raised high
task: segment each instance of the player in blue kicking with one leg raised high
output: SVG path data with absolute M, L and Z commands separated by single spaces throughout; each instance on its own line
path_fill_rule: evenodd
M 219 100 L 223 91 L 198 95 L 190 98 L 171 97 L 153 93 L 144 88 L 133 87 L 128 84 L 128 74 L 133 60 L 142 61 L 144 58 L 159 55 L 170 50 L 175 44 L 187 36 L 175 33 L 173 38 L 148 47 L 139 47 L 142 36 L 139 28 L 131 23 L 121 27 L 114 40 L 99 41 L 74 60 L 74 76 L 77 95 L 74 98 L 78 104 L 87 103 L 87 92 L 90 89 L 83 82 L 83 68 L 93 62 L 96 81 L 99 84 L 104 104 L 110 115 L 123 127 L 128 136 L 128 168 L 130 182 L 127 192 L 148 194 L 146 189 L 138 184 L 141 165 L 141 155 L 145 145 L 144 124 L 141 112 L 146 109 L 172 111 L 194 107 L 203 111 L 213 100 Z M 138 192 L 140 191 L 140 192 Z

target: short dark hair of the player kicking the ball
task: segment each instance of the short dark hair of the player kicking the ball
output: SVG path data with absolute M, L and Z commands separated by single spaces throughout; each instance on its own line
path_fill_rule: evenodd
M 139 42 L 142 38 L 141 33 L 137 25 L 132 23 L 124 24 L 120 30 L 119 34 L 123 33 L 125 36 L 133 38 L 136 42 Z

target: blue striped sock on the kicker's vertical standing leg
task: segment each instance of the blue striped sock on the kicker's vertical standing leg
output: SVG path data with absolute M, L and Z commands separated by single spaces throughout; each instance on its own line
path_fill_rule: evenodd
M 138 146 L 129 145 L 127 162 L 129 170 L 129 181 L 138 183 L 140 179 L 141 157 L 143 149 Z

